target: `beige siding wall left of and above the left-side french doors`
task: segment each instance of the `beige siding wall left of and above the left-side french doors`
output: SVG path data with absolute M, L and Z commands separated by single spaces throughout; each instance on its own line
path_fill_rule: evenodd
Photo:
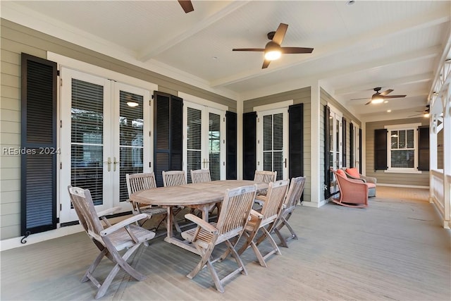
M 159 85 L 159 90 L 185 92 L 237 110 L 234 99 L 112 59 L 61 39 L 1 19 L 0 147 L 20 147 L 20 53 L 47 59 L 47 51 L 84 61 Z M 0 156 L 0 240 L 20 235 L 20 156 Z

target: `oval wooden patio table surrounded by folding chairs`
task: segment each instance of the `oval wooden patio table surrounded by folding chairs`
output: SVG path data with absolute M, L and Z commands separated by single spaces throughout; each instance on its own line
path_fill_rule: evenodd
M 254 184 L 257 184 L 257 192 L 268 188 L 268 183 L 260 183 L 253 180 L 214 180 L 206 183 L 192 183 L 142 190 L 130 195 L 130 199 L 142 204 L 166 207 L 168 209 L 168 218 L 166 219 L 168 232 L 164 240 L 198 254 L 197 250 L 185 240 L 175 238 L 172 228 L 174 219 L 173 207 L 184 206 L 197 208 L 202 211 L 202 219 L 208 221 L 210 205 L 220 204 L 223 201 L 224 193 L 227 189 Z

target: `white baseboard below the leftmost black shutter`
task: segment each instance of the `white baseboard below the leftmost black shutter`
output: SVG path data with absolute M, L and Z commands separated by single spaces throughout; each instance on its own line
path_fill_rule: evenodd
M 9 238 L 6 240 L 0 240 L 0 252 L 5 250 L 14 249 L 16 247 L 24 247 L 25 245 L 32 245 L 37 242 L 43 242 L 44 240 L 51 240 L 54 238 L 61 238 L 62 236 L 85 231 L 81 225 L 66 226 L 57 228 L 55 230 L 46 231 L 42 233 L 36 233 L 25 238 L 26 243 L 20 242 L 23 236 L 18 238 Z

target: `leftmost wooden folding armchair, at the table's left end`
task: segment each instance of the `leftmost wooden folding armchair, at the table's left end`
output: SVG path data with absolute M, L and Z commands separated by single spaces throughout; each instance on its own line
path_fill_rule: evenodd
M 85 276 L 82 278 L 82 282 L 90 280 L 97 286 L 98 290 L 95 298 L 98 299 L 105 295 L 106 290 L 108 290 L 109 285 L 120 269 L 123 269 L 123 271 L 137 281 L 144 280 L 146 276 L 133 269 L 132 266 L 127 263 L 127 259 L 143 242 L 147 242 L 147 240 L 151 240 L 155 236 L 154 232 L 135 225 L 135 222 L 147 219 L 147 215 L 137 214 L 111 225 L 105 216 L 113 214 L 118 211 L 120 207 L 107 209 L 97 213 L 89 190 L 72 187 L 70 185 L 68 186 L 68 190 L 70 201 L 78 215 L 78 219 L 80 219 L 80 223 L 83 228 L 85 228 L 89 238 L 94 242 L 94 245 L 100 250 L 100 254 L 94 259 L 94 262 L 92 262 L 91 266 L 87 269 Z M 104 221 L 105 226 L 102 225 L 99 217 Z M 121 256 L 120 252 L 123 250 L 126 250 L 126 252 Z M 111 269 L 108 276 L 106 276 L 104 282 L 100 283 L 97 278 L 94 278 L 93 273 L 103 257 L 110 259 L 115 266 L 113 266 L 113 269 Z

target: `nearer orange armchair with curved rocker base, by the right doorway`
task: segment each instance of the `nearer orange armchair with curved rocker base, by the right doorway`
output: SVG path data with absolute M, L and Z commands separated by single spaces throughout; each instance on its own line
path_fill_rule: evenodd
M 347 178 L 342 169 L 333 171 L 333 173 L 337 179 L 338 189 L 340 189 L 340 197 L 332 199 L 334 203 L 347 207 L 368 207 L 368 185 L 366 183 L 362 180 Z

